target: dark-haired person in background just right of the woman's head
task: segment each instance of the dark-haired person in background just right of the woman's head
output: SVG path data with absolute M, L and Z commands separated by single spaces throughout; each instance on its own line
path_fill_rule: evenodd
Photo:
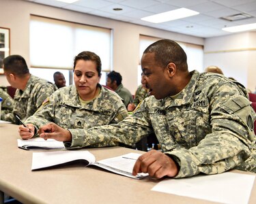
M 126 107 L 132 102 L 132 94 L 122 84 L 122 75 L 120 73 L 116 71 L 109 72 L 106 78 L 106 86 L 112 88 L 122 98 Z

